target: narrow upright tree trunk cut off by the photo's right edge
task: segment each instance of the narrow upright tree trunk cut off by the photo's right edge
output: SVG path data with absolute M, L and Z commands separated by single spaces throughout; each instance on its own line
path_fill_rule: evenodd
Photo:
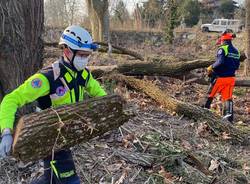
M 250 76 L 250 1 L 246 0 L 246 55 L 247 61 L 244 66 L 244 75 Z

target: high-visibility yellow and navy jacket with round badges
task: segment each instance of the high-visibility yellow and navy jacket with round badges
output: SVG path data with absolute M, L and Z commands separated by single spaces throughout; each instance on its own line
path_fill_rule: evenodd
M 63 59 L 32 75 L 7 94 L 0 106 L 0 127 L 13 129 L 17 108 L 38 101 L 41 109 L 84 100 L 87 96 L 105 96 L 106 92 L 88 69 L 76 72 Z

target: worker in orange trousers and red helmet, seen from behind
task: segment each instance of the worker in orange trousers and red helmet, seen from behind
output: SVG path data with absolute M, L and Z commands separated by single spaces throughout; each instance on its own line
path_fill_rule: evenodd
M 233 122 L 232 94 L 235 85 L 235 71 L 240 66 L 240 53 L 232 44 L 233 38 L 235 38 L 235 34 L 224 32 L 217 42 L 220 47 L 217 51 L 216 61 L 207 68 L 211 84 L 205 103 L 205 108 L 210 109 L 213 98 L 220 93 L 221 101 L 224 103 L 223 119 L 230 122 Z

